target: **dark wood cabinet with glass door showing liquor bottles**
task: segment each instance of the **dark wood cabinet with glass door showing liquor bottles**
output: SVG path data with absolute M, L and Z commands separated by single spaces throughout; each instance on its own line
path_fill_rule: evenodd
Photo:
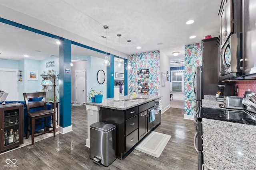
M 23 104 L 0 105 L 0 122 L 0 152 L 23 144 Z M 7 141 L 6 137 L 8 137 Z

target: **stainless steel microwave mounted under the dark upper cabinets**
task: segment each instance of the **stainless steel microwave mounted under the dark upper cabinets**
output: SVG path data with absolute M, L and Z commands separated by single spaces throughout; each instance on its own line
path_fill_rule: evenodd
M 242 59 L 242 33 L 232 34 L 220 52 L 219 80 L 242 79 L 242 70 L 239 65 Z

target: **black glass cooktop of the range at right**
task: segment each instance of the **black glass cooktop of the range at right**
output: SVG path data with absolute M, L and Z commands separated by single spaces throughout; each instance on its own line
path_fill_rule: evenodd
M 202 121 L 202 118 L 242 123 L 247 125 L 256 125 L 256 118 L 252 114 L 243 110 L 226 110 L 200 107 L 198 121 Z

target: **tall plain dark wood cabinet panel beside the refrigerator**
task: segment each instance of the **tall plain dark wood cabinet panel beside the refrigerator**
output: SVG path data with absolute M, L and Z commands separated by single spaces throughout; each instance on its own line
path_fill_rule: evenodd
M 202 40 L 204 95 L 215 95 L 218 92 L 217 39 L 218 37 Z

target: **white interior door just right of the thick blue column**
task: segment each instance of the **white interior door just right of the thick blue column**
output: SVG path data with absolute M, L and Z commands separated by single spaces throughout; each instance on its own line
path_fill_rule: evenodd
M 76 103 L 83 104 L 86 97 L 86 70 L 76 70 Z

